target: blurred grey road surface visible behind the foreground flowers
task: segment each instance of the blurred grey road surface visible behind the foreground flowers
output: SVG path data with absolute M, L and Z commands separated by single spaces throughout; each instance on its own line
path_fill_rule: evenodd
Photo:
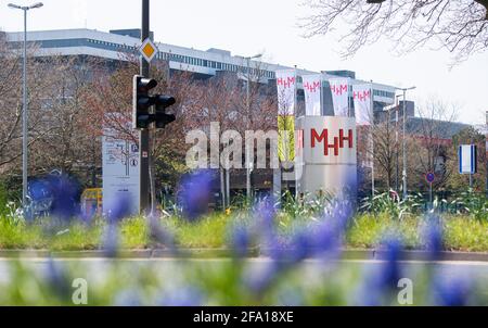
M 245 276 L 252 277 L 258 274 L 260 270 L 265 270 L 271 261 L 266 257 L 251 258 L 246 261 L 249 270 L 245 272 Z M 169 285 L 187 286 L 188 280 L 184 280 L 182 273 L 193 273 L 192 279 L 201 279 L 202 275 L 218 275 L 219 266 L 227 267 L 233 265 L 230 260 L 215 258 L 215 260 L 178 260 L 178 258 L 152 258 L 152 260 L 105 260 L 105 258 L 79 258 L 79 260 L 54 260 L 56 267 L 64 269 L 68 268 L 72 273 L 72 278 L 82 278 L 89 281 L 90 286 L 97 286 L 99 283 L 104 285 L 106 281 L 119 281 L 124 285 L 124 281 L 138 281 L 141 283 L 141 272 L 151 270 L 151 273 L 158 276 L 163 281 L 170 281 Z M 229 265 L 230 264 L 230 265 Z M 15 280 L 13 275 L 18 275 L 18 272 L 12 270 L 12 268 L 22 265 L 28 270 L 24 276 L 23 283 L 29 279 L 42 279 L 46 275 L 49 275 L 52 265 L 47 258 L 26 258 L 21 262 L 16 262 L 8 258 L 0 258 L 0 288 L 1 286 L 12 286 Z M 305 261 L 301 265 L 298 274 L 299 279 L 305 285 L 323 283 L 333 276 L 332 283 L 343 283 L 343 286 L 350 285 L 350 277 L 359 273 L 359 277 L 367 275 L 375 275 L 375 270 L 380 269 L 384 265 L 381 261 L 339 261 L 335 263 L 329 263 L 324 265 L 323 262 L 318 260 Z M 409 278 L 413 283 L 422 281 L 421 274 L 426 272 L 426 268 L 435 268 L 436 279 L 448 279 L 452 281 L 458 277 L 464 278 L 468 281 L 479 281 L 478 279 L 485 279 L 488 281 L 488 263 L 486 262 L 439 262 L 439 263 L 425 263 L 425 262 L 401 262 L 402 277 Z M 196 274 L 195 274 L 196 273 Z M 331 275 L 332 273 L 332 275 Z M 329 276 L 328 276 L 329 275 Z M 25 278 L 27 277 L 27 278 Z M 132 280 L 131 280 L 132 279 Z M 324 280 L 325 279 L 325 280 Z M 342 282 L 341 282 L 342 279 Z M 175 282 L 174 282 L 175 281 Z M 336 282 L 337 281 L 337 282 Z M 17 283 L 17 282 L 15 282 Z M 182 285 L 181 285 L 182 283 Z M 422 282 L 419 282 L 422 283 Z M 458 282 L 452 282 L 458 283 Z M 28 282 L 27 282 L 27 286 Z M 141 285 L 137 285 L 140 288 Z M 488 286 L 484 283 L 481 286 Z M 488 294 L 488 289 L 479 291 Z

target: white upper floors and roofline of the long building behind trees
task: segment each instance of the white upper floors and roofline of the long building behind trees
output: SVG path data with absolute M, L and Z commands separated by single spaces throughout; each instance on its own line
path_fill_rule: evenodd
M 60 29 L 29 31 L 27 38 L 30 42 L 39 45 L 36 51 L 38 56 L 49 55 L 92 55 L 112 60 L 123 60 L 121 53 L 137 53 L 140 47 L 139 29 L 118 29 L 112 33 L 97 29 Z M 20 43 L 23 33 L 7 33 L 7 39 L 11 43 Z M 232 55 L 228 50 L 210 48 L 197 50 L 175 45 L 156 42 L 159 50 L 157 59 L 167 60 L 172 70 L 190 71 L 197 74 L 214 76 L 217 72 L 229 71 L 235 73 L 247 72 L 247 60 L 241 55 Z M 274 79 L 274 72 L 279 70 L 295 70 L 275 63 L 251 61 L 251 70 L 257 70 L 264 76 L 265 81 Z M 322 74 L 326 80 L 335 76 L 350 77 L 350 83 L 370 84 L 356 79 L 356 74 L 349 71 L 312 72 L 296 68 L 297 75 Z M 300 79 L 298 79 L 300 84 Z M 384 84 L 373 83 L 375 101 L 391 104 L 395 101 L 395 88 Z

